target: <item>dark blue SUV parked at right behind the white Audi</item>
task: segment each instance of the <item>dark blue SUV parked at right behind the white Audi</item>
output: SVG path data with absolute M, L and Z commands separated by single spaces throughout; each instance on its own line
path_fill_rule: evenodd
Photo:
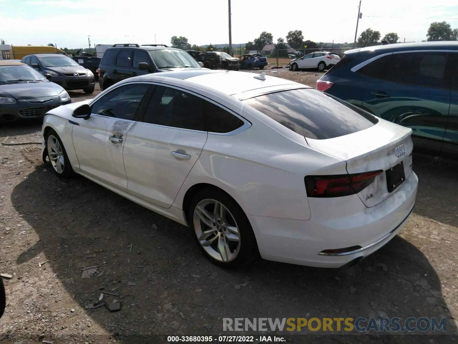
M 316 86 L 412 128 L 415 147 L 458 156 L 458 42 L 348 50 Z

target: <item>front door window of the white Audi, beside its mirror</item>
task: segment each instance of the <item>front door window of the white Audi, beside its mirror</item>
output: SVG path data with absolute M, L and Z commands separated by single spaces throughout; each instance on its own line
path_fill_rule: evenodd
M 136 111 L 149 89 L 147 84 L 130 84 L 118 87 L 92 105 L 92 113 L 107 117 L 134 120 Z

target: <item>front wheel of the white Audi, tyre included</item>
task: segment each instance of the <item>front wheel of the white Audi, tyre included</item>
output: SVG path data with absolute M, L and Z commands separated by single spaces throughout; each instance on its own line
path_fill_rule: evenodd
M 45 142 L 48 158 L 55 174 L 63 178 L 73 176 L 75 172 L 73 172 L 67 152 L 59 135 L 53 129 L 49 129 L 46 133 Z

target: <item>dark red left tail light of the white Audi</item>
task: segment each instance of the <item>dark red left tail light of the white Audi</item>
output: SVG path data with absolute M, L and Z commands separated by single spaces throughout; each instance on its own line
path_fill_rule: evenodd
M 305 177 L 309 197 L 343 197 L 357 194 L 374 182 L 383 171 Z

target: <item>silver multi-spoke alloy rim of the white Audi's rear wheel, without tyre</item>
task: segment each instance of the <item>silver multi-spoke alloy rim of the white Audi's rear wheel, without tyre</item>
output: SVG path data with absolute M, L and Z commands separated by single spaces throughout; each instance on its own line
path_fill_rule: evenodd
M 217 200 L 201 200 L 194 209 L 194 231 L 203 249 L 217 261 L 233 261 L 240 251 L 240 233 L 230 211 Z

